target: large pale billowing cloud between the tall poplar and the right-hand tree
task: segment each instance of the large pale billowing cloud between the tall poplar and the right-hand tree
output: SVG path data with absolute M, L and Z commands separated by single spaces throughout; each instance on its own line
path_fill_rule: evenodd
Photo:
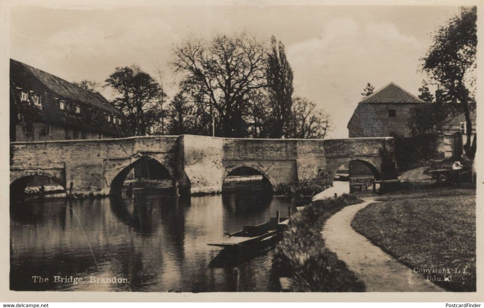
M 341 18 L 320 32 L 288 46 L 287 58 L 294 70 L 295 95 L 308 97 L 330 113 L 337 125 L 332 137 L 348 137 L 348 120 L 367 82 L 376 87 L 390 81 L 404 88 L 414 81 L 420 84 L 416 69 L 423 47 L 395 25 L 361 25 Z M 408 90 L 413 92 L 413 85 Z

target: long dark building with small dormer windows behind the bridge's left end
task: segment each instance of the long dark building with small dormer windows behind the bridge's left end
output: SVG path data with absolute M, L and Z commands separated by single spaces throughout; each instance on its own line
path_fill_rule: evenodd
M 11 141 L 119 138 L 126 119 L 99 93 L 10 59 Z

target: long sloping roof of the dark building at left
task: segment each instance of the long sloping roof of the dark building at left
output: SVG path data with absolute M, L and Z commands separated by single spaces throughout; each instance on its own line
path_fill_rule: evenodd
M 60 77 L 14 59 L 10 59 L 10 78 L 13 79 L 15 84 L 42 89 L 54 93 L 59 98 L 80 101 L 108 112 L 121 114 L 101 94 L 85 90 Z

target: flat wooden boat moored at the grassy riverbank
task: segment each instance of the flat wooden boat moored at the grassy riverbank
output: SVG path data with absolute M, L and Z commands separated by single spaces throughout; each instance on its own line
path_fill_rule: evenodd
M 290 210 L 289 210 L 290 212 Z M 218 243 L 209 243 L 210 246 L 223 248 L 263 248 L 269 246 L 287 228 L 289 217 L 272 217 L 269 222 L 257 225 L 246 225 L 242 230 L 228 233 L 227 237 Z

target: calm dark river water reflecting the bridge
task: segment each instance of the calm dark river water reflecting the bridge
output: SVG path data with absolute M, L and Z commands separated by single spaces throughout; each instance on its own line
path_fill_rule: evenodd
M 221 248 L 207 243 L 221 239 L 224 230 L 264 223 L 276 210 L 286 216 L 291 204 L 295 208 L 293 200 L 253 187 L 217 196 L 145 192 L 91 201 L 12 201 L 11 289 L 277 291 L 273 250 L 219 255 Z M 116 283 L 106 282 L 114 277 Z

